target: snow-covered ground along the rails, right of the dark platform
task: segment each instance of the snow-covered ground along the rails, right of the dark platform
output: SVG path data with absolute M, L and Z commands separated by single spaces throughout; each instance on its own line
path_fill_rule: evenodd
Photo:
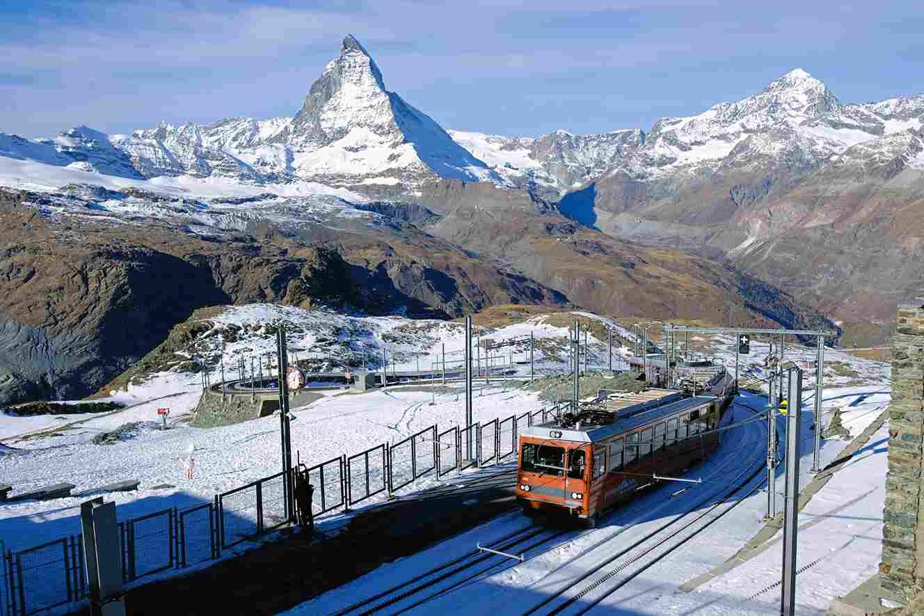
M 743 399 L 754 404 L 760 399 L 745 394 Z M 856 436 L 869 425 L 888 404 L 888 390 L 878 388 L 832 388 L 825 390 L 824 408 L 845 408 L 845 425 Z M 748 400 L 750 399 L 750 400 Z M 746 421 L 750 412 L 741 406 L 735 409 L 736 422 Z M 810 411 L 810 402 L 805 410 Z M 810 425 L 808 413 L 805 427 Z M 778 429 L 784 428 L 780 420 Z M 887 425 L 873 435 L 869 444 L 855 459 L 835 474 L 833 479 L 809 502 L 800 514 L 803 531 L 799 536 L 798 565 L 817 561 L 797 579 L 798 613 L 823 614 L 831 600 L 865 581 L 877 571 L 881 549 L 881 508 L 884 499 Z M 801 444 L 802 486 L 811 475 L 811 431 L 803 431 Z M 748 469 L 760 467 L 764 455 L 766 430 L 763 422 L 741 425 L 729 431 L 722 448 L 713 458 L 693 469 L 689 476 L 701 477 L 703 483 L 689 487 L 676 498 L 670 495 L 677 485 L 667 484 L 637 501 L 614 511 L 602 528 L 591 532 L 574 532 L 552 545 L 542 545 L 526 551 L 523 564 L 498 557 L 494 566 L 475 580 L 468 581 L 455 592 L 445 594 L 420 605 L 416 613 L 521 614 L 538 605 L 550 594 L 570 585 L 585 573 L 596 571 L 602 561 L 615 552 L 630 547 L 639 538 L 667 522 L 672 516 L 686 511 L 692 504 L 712 492 L 718 492 L 725 482 Z M 831 439 L 824 442 L 821 463 L 833 461 L 847 441 Z M 782 468 L 777 487 L 782 487 Z M 755 483 L 762 481 L 760 479 Z M 754 483 L 751 486 L 755 485 Z M 684 548 L 639 575 L 630 584 L 590 610 L 590 613 L 626 614 L 775 614 L 779 612 L 779 589 L 760 591 L 780 579 L 781 549 L 772 546 L 760 556 L 699 586 L 693 592 L 679 591 L 682 583 L 706 573 L 736 553 L 762 526 L 766 512 L 766 492 L 759 490 L 739 502 Z M 782 506 L 782 498 L 780 499 Z M 705 507 L 702 508 L 705 510 Z M 721 511 L 721 510 L 720 510 Z M 362 598 L 407 581 L 434 566 L 453 560 L 468 552 L 476 543 L 485 545 L 492 538 L 505 535 L 528 524 L 522 515 L 510 514 L 485 524 L 463 536 L 444 542 L 417 555 L 386 565 L 354 582 L 330 591 L 320 598 L 290 610 L 290 614 L 329 613 L 353 604 Z M 772 542 L 779 542 L 774 536 Z M 846 550 L 846 551 L 845 551 Z M 849 558 L 845 555 L 849 554 Z M 819 560 L 821 559 L 821 560 Z M 599 573 L 585 580 L 587 585 Z M 614 585 L 619 581 L 615 577 Z M 581 585 L 578 585 L 580 587 Z M 606 585 L 602 585 L 605 589 Z M 438 587 L 437 587 L 438 589 Z M 566 596 L 566 594 L 565 594 Z M 395 603 L 383 613 L 397 610 L 420 597 Z M 555 604 L 551 604 L 550 608 Z M 578 601 L 565 613 L 577 613 L 588 604 Z M 392 611 L 394 610 L 394 611 Z M 548 609 L 546 609 L 548 610 Z M 545 613 L 540 610 L 538 613 Z

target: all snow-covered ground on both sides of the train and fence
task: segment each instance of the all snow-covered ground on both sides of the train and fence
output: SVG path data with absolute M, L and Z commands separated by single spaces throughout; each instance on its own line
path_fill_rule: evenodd
M 224 362 L 227 376 L 237 377 L 237 371 L 233 368 L 237 360 L 274 351 L 274 336 L 262 325 L 280 320 L 286 322 L 290 350 L 299 349 L 299 352 L 306 355 L 314 353 L 319 358 L 330 357 L 330 360 L 325 361 L 331 364 L 360 361 L 362 350 L 366 349 L 370 366 L 378 368 L 378 358 L 384 349 L 389 369 L 394 365 L 398 371 L 414 370 L 418 361 L 420 367 L 426 369 L 437 361 L 443 345 L 447 363 L 453 361 L 454 357 L 461 359 L 463 332 L 456 323 L 412 322 L 401 317 L 348 316 L 268 304 L 233 307 L 213 317 L 211 334 L 197 339 L 193 347 L 177 359 L 193 358 L 208 364 L 215 371 Z M 602 320 L 618 326 L 608 319 Z M 546 321 L 546 317 L 533 317 L 525 323 L 485 331 L 483 337 L 501 340 L 532 333 L 540 342 L 535 353 L 537 367 L 541 371 L 563 370 L 567 329 L 549 325 Z M 625 338 L 631 338 L 625 328 L 620 327 L 619 331 Z M 734 370 L 733 339 L 692 336 L 691 343 L 694 341 L 706 344 L 711 354 L 722 357 L 726 366 Z M 590 343 L 598 363 L 606 365 L 606 340 L 591 339 Z M 765 344 L 752 342 L 751 349 L 752 354 L 742 358 L 740 371 L 743 377 L 760 380 L 766 376 L 762 360 L 769 348 Z M 614 349 L 614 353 L 619 354 L 627 351 L 625 348 Z M 789 346 L 786 359 L 804 361 L 812 359 L 813 353 L 812 349 Z M 505 360 L 508 359 L 506 352 L 504 355 Z M 374 361 L 373 356 L 376 358 Z M 515 348 L 513 359 L 520 374 L 528 373 L 529 363 L 517 363 L 525 361 L 525 349 Z M 889 400 L 888 364 L 858 359 L 842 351 L 832 350 L 826 351 L 825 360 L 832 367 L 830 374 L 829 370 L 825 371 L 827 387 L 822 397 L 825 421 L 830 419 L 835 408 L 841 408 L 844 410 L 844 425 L 852 436 L 856 436 L 878 416 Z M 591 360 L 591 366 L 593 363 Z M 213 382 L 215 380 L 213 376 Z M 850 387 L 845 387 L 847 383 L 850 383 Z M 480 387 L 480 384 L 476 387 Z M 106 495 L 106 499 L 116 501 L 119 518 L 128 519 L 167 507 L 182 509 L 207 502 L 213 499 L 215 493 L 274 474 L 279 467 L 278 418 L 266 417 L 209 429 L 191 427 L 185 420 L 194 410 L 200 392 L 199 375 L 168 371 L 152 375 L 143 382 L 133 383 L 127 390 L 112 391 L 109 400 L 128 405 L 125 410 L 116 413 L 40 417 L 0 414 L 0 438 L 3 439 L 4 447 L 0 449 L 0 482 L 12 484 L 19 492 L 67 481 L 76 485 L 77 492 L 119 480 L 138 479 L 138 491 Z M 344 453 L 358 453 L 377 444 L 394 443 L 430 425 L 435 424 L 445 430 L 464 423 L 464 398 L 451 388 L 436 388 L 433 391 L 388 388 L 363 394 L 327 390 L 319 393 L 322 394 L 319 400 L 294 409 L 296 420 L 292 423 L 293 449 L 298 452 L 298 459 L 309 465 Z M 811 396 L 812 392 L 807 391 L 804 400 L 807 411 L 813 408 Z M 745 394 L 743 399 L 748 398 L 751 399 L 748 402 L 751 405 L 760 406 L 763 403 L 755 394 Z M 171 410 L 172 427 L 169 430 L 154 429 L 153 423 L 158 421 L 156 409 L 159 407 Z M 514 413 L 535 412 L 542 407 L 542 402 L 536 392 L 505 390 L 505 386 L 492 384 L 490 388 L 476 391 L 474 407 L 476 419 L 484 423 Z M 748 416 L 748 410 L 736 407 L 736 420 Z M 92 437 L 99 433 L 129 422 L 146 423 L 141 425 L 133 437 L 115 445 L 91 443 Z M 34 434 L 41 430 L 45 431 L 42 435 Z M 782 425 L 780 430 L 782 432 Z M 806 473 L 803 477 L 805 483 L 811 465 L 812 433 L 808 425 L 803 434 L 802 451 L 809 456 L 803 459 L 802 464 Z M 732 467 L 747 462 L 748 457 L 762 456 L 765 442 L 763 435 L 765 429 L 762 422 L 736 428 L 734 433 L 729 433 L 725 438 L 723 456 L 717 456 L 695 471 L 704 478 L 702 486 L 691 487 L 680 499 L 670 499 L 672 504 L 669 507 L 659 509 L 659 503 L 666 499 L 665 495 L 677 489 L 663 487 L 637 504 L 614 513 L 608 525 L 594 534 L 582 536 L 541 555 L 539 552 L 529 553 L 529 556 L 535 558 L 516 568 L 502 570 L 477 581 L 470 589 L 477 588 L 477 596 L 483 597 L 483 600 L 470 604 L 467 601 L 466 610 L 475 613 L 481 610 L 507 613 L 510 610 L 505 606 L 513 603 L 505 602 L 503 598 L 509 593 L 518 593 L 524 598 L 538 598 L 536 593 L 541 593 L 542 584 L 553 580 L 549 577 L 553 573 L 560 579 L 566 579 L 570 574 L 568 572 L 575 567 L 592 567 L 592 559 L 596 558 L 594 554 L 602 554 L 626 544 L 631 537 L 663 524 L 663 517 L 668 511 L 678 511 L 678 503 L 688 503 L 688 499 L 696 498 L 697 494 L 703 493 L 702 490 L 715 486 L 715 481 L 731 472 Z M 814 579 L 811 576 L 820 576 L 811 585 L 810 592 L 802 591 L 804 596 L 799 596 L 800 605 L 805 607 L 806 613 L 820 613 L 835 595 L 844 594 L 875 570 L 879 559 L 883 499 L 882 490 L 878 487 L 885 473 L 883 438 L 882 434 L 875 435 L 870 440 L 870 446 L 846 467 L 849 470 L 835 475 L 803 513 L 806 520 L 822 519 L 819 524 L 813 524 L 807 529 L 804 540 L 800 540 L 800 549 L 805 550 L 806 554 L 805 559 L 800 556 L 800 563 L 818 559 L 821 556 L 819 550 L 825 546 L 825 549 L 840 546 L 840 543 L 832 543 L 833 537 L 843 536 L 844 541 L 841 543 L 845 543 L 851 533 L 857 535 L 847 548 L 852 558 L 849 566 L 845 566 L 841 562 L 843 559 L 834 555 L 822 559 L 803 573 L 808 576 L 806 580 Z M 193 478 L 186 479 L 181 460 L 190 445 L 196 447 L 197 468 Z M 838 439 L 825 441 L 821 451 L 822 464 L 833 460 L 844 445 L 845 441 Z M 707 478 L 711 479 L 705 481 Z M 435 483 L 437 481 L 432 475 L 427 476 L 402 492 L 409 493 Z M 154 489 L 164 485 L 170 487 Z M 782 485 L 782 480 L 778 480 L 777 487 Z M 857 499 L 859 496 L 862 498 Z M 851 499 L 856 500 L 843 510 L 837 509 Z M 76 534 L 79 532 L 81 500 L 24 501 L 0 506 L 0 538 L 5 540 L 6 548 L 16 550 Z M 625 591 L 633 591 L 627 592 L 627 597 L 614 595 L 621 597 L 620 607 L 631 606 L 631 610 L 639 613 L 690 610 L 693 613 L 742 613 L 735 611 L 737 602 L 742 597 L 748 598 L 760 591 L 763 587 L 760 582 L 776 574 L 773 568 L 779 566 L 779 550 L 768 550 L 692 593 L 677 593 L 676 586 L 731 556 L 760 528 L 760 517 L 765 508 L 766 494 L 759 492 L 746 499 L 723 518 L 723 524 L 698 536 L 693 544 L 696 549 L 678 550 L 668 560 L 626 585 Z M 342 514 L 334 511 L 326 516 L 327 522 L 322 524 L 339 524 L 340 517 Z M 633 521 L 637 524 L 630 526 Z M 360 597 L 376 587 L 388 585 L 390 581 L 406 579 L 415 572 L 432 567 L 434 562 L 441 559 L 449 560 L 461 549 L 460 546 L 470 547 L 475 541 L 483 542 L 490 536 L 499 536 L 517 524 L 526 522 L 517 515 L 505 516 L 465 536 L 383 567 L 318 600 L 323 605 L 329 603 L 333 607 L 341 600 L 338 597 Z M 606 533 L 614 536 L 612 539 L 606 538 Z M 588 551 L 604 538 L 606 543 L 603 545 L 606 548 L 601 548 L 602 551 L 589 551 L 581 563 L 568 565 L 575 555 Z M 834 562 L 837 562 L 836 567 Z M 755 610 L 754 613 L 770 613 L 773 592 L 756 598 L 748 604 L 748 609 Z M 467 591 L 467 598 L 469 595 Z M 311 605 L 306 606 L 301 613 L 310 613 L 321 604 L 313 608 Z

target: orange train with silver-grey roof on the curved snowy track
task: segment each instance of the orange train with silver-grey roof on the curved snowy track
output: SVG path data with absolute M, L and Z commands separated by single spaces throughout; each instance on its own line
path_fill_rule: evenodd
M 675 475 L 719 446 L 721 433 L 713 429 L 730 398 L 646 393 L 611 396 L 615 404 L 604 400 L 524 429 L 517 472 L 524 511 L 592 526 L 602 512 L 657 483 L 655 475 Z

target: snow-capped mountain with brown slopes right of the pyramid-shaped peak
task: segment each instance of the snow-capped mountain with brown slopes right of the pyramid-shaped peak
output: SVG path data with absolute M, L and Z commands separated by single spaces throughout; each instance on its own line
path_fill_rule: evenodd
M 619 239 L 727 259 L 844 324 L 888 335 L 924 290 L 917 218 L 924 96 L 845 105 L 796 69 L 762 92 L 658 120 L 569 191 L 565 215 Z

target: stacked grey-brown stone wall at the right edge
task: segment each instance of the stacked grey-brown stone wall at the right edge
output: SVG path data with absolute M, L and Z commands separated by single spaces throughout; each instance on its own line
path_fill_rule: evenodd
M 924 305 L 920 302 L 898 307 L 889 426 L 880 585 L 883 595 L 907 602 L 924 587 Z

